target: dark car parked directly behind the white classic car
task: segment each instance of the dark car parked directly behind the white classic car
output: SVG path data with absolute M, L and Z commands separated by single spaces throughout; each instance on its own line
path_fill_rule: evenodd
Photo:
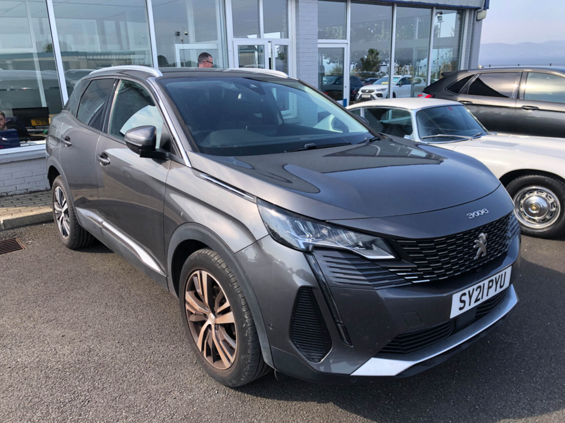
M 565 138 L 565 68 L 442 73 L 419 97 L 463 103 L 489 131 Z

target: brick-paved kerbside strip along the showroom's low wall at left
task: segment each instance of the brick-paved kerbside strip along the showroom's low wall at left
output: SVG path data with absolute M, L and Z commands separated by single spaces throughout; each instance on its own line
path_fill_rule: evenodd
M 51 219 L 51 191 L 0 197 L 0 230 Z

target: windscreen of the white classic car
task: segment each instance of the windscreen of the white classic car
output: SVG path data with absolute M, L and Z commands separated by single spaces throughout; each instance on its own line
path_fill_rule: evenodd
M 420 139 L 427 142 L 457 141 L 485 134 L 486 129 L 464 105 L 430 107 L 416 113 Z

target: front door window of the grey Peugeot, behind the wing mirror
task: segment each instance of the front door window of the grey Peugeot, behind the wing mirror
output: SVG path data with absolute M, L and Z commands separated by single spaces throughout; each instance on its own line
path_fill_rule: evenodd
M 130 129 L 151 125 L 157 129 L 157 146 L 161 148 L 163 118 L 149 92 L 136 82 L 121 81 L 110 117 L 110 135 L 124 139 Z

